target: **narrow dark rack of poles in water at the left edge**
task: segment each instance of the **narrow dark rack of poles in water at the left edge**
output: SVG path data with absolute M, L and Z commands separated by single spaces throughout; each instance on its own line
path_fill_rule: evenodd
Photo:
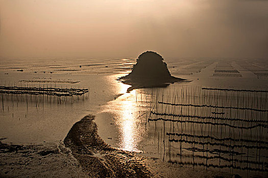
M 62 87 L 55 84 L 22 84 L 0 85 L 1 111 L 9 110 L 9 105 L 5 106 L 5 101 L 12 102 L 12 107 L 18 106 L 19 102 L 28 105 L 40 105 L 46 103 L 73 103 L 75 101 L 87 99 L 89 96 L 88 88 Z

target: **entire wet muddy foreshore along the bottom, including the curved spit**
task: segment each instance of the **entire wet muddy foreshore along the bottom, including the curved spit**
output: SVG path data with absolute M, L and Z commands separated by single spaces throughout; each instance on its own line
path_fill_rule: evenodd
M 115 149 L 99 137 L 94 117 L 83 117 L 63 142 L 0 142 L 0 177 L 232 177 Z

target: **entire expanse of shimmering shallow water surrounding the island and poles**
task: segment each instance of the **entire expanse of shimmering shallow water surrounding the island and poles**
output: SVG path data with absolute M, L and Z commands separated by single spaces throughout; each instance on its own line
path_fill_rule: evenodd
M 55 62 L 56 61 L 56 62 Z M 7 142 L 42 142 L 62 140 L 71 126 L 84 115 L 96 115 L 99 135 L 109 144 L 127 151 L 135 151 L 145 156 L 189 164 L 209 169 L 221 169 L 241 175 L 264 174 L 267 169 L 265 149 L 235 148 L 230 150 L 217 145 L 206 145 L 197 136 L 268 141 L 267 128 L 230 129 L 228 126 L 198 124 L 189 121 L 229 124 L 249 127 L 248 122 L 226 122 L 222 120 L 202 120 L 192 117 L 159 116 L 154 113 L 187 114 L 198 116 L 217 116 L 251 120 L 267 120 L 267 112 L 245 111 L 239 109 L 199 108 L 192 106 L 170 106 L 158 102 L 259 108 L 267 110 L 267 93 L 226 92 L 202 90 L 209 88 L 233 88 L 236 90 L 267 90 L 267 61 L 260 60 L 223 60 L 223 59 L 168 59 L 165 60 L 173 76 L 192 80 L 187 83 L 174 83 L 165 88 L 141 88 L 127 93 L 129 85 L 116 81 L 116 78 L 130 72 L 135 63 L 133 59 L 80 59 L 42 60 L 2 62 L 2 85 L 48 85 L 57 87 L 89 88 L 84 99 L 65 99 L 64 102 L 52 102 L 45 98 L 36 107 L 36 99 L 25 96 L 17 98 L 4 96 L 4 109 L 1 105 L 0 136 L 7 137 Z M 81 68 L 80 68 L 81 65 Z M 107 67 L 106 67 L 107 66 Z M 26 68 L 18 72 L 14 68 Z M 45 71 L 45 73 L 43 73 Z M 37 72 L 37 73 L 34 73 Z M 52 72 L 52 73 L 50 73 Z M 5 74 L 8 73 L 8 74 Z M 233 75 L 235 74 L 235 75 Z M 71 83 L 25 83 L 19 80 L 60 80 L 80 81 Z M 2 99 L 2 98 L 1 98 Z M 22 100 L 22 101 L 21 101 Z M 24 100 L 24 101 L 23 101 Z M 42 101 L 42 100 L 40 100 Z M 28 104 L 27 104 L 28 103 Z M 28 107 L 27 107 L 28 105 Z M 239 110 L 239 111 L 237 111 Z M 212 113 L 214 112 L 214 114 Z M 223 114 L 224 113 L 224 114 Z M 171 121 L 149 121 L 156 118 L 183 120 L 184 123 Z M 253 123 L 256 124 L 256 123 Z M 173 133 L 175 135 L 167 135 Z M 181 137 L 192 142 L 172 142 L 180 140 L 177 134 L 191 136 Z M 260 133 L 260 134 L 259 134 Z M 261 136 L 260 136 L 261 135 Z M 197 138 L 196 138 L 197 137 Z M 197 144 L 199 142 L 200 144 Z M 220 142 L 222 143 L 222 142 Z M 237 145 L 242 142 L 225 142 Z M 255 144 L 248 143 L 248 146 Z M 259 142 L 256 146 L 266 145 Z M 255 147 L 256 147 L 255 146 Z M 203 150 L 202 150 L 203 149 Z M 208 152 L 210 150 L 210 152 Z M 218 152 L 220 150 L 220 152 Z M 224 152 L 225 151 L 225 152 Z M 249 152 L 249 153 L 248 153 Z M 241 160 L 244 162 L 241 163 Z M 251 163 L 249 165 L 249 163 Z M 253 164 L 254 163 L 254 164 Z M 257 164 L 255 164 L 257 163 Z M 260 164 L 262 163 L 262 164 Z M 229 165 L 226 166 L 226 165 Z M 237 169 L 237 167 L 245 170 Z M 259 171 L 252 171 L 254 169 Z

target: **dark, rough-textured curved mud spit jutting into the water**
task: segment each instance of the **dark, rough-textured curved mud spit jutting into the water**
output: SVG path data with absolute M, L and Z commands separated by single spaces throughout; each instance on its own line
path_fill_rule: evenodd
M 70 129 L 64 144 L 90 177 L 151 177 L 143 159 L 114 149 L 98 135 L 94 116 L 87 115 Z

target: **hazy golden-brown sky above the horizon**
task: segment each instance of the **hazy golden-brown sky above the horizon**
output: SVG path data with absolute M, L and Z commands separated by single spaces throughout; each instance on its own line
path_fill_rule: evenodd
M 0 0 L 2 57 L 268 57 L 268 1 Z

